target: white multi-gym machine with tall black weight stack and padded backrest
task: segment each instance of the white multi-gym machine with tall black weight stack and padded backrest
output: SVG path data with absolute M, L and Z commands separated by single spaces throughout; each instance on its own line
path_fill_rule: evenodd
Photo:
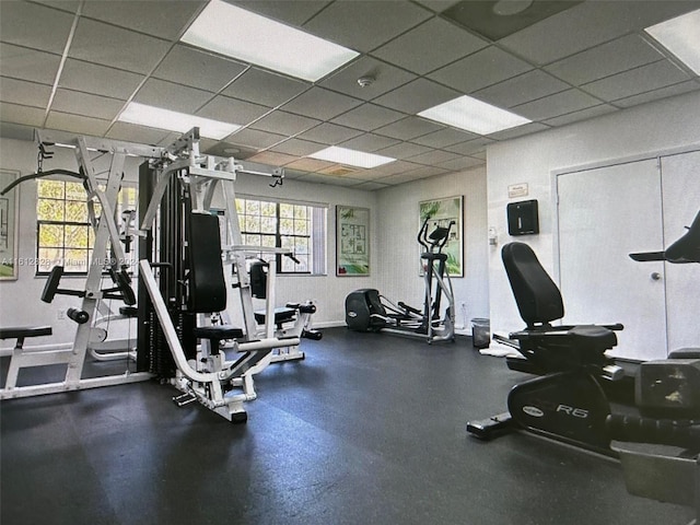
M 197 128 L 167 151 L 167 158 L 141 164 L 139 174 L 145 212 L 139 240 L 137 362 L 182 392 L 174 398 L 179 406 L 198 401 L 234 423 L 245 422 L 244 404 L 257 397 L 254 375 L 289 354 L 301 359 L 295 349 L 302 337 L 319 338 L 310 328 L 316 310 L 311 302 L 276 307 L 276 265 L 248 265 L 261 252 L 272 258 L 290 252 L 242 244 L 237 175 L 270 176 L 279 186 L 283 173 L 254 172 L 233 159 L 200 155 Z M 220 218 L 211 212 L 214 197 L 225 206 L 223 236 Z M 237 292 L 243 326 L 231 324 L 229 289 Z M 255 312 L 254 292 L 265 299 L 261 312 Z

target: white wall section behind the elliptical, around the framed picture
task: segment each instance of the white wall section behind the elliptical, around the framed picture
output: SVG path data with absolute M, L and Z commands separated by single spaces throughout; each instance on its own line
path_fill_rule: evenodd
M 469 327 L 469 319 L 488 317 L 487 285 L 487 192 L 486 170 L 417 180 L 378 191 L 378 283 L 382 294 L 394 302 L 423 306 L 423 279 L 419 276 L 419 202 L 464 196 L 464 277 L 452 280 L 456 325 Z M 359 288 L 359 287 L 358 287 Z M 464 303 L 465 308 L 462 307 Z

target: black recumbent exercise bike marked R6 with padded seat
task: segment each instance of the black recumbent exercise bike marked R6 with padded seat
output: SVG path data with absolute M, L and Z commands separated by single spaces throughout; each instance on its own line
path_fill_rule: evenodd
M 488 440 L 526 429 L 614 455 L 605 425 L 610 406 L 600 381 L 623 376 L 622 369 L 605 354 L 617 345 L 614 330 L 621 330 L 622 325 L 552 326 L 552 320 L 564 315 L 563 301 L 533 249 L 524 243 L 510 243 L 501 255 L 527 327 L 497 339 L 522 354 L 506 358 L 509 369 L 537 377 L 511 389 L 508 412 L 469 421 L 467 431 Z

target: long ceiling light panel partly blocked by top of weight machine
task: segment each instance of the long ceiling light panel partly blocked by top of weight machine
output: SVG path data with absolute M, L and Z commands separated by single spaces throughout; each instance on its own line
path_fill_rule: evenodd
M 187 132 L 194 127 L 199 128 L 201 137 L 221 140 L 230 136 L 241 126 L 229 122 L 220 122 L 210 118 L 197 117 L 185 113 L 171 112 L 161 107 L 147 106 L 137 102 L 130 102 L 121 112 L 118 120 L 129 124 L 139 124 L 149 128 L 167 129 L 170 131 Z

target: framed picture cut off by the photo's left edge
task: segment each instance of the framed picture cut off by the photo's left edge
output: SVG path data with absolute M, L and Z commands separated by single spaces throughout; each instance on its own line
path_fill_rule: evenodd
M 0 168 L 0 191 L 3 191 L 20 176 L 20 172 Z M 18 278 L 18 202 L 20 188 L 15 186 L 0 195 L 0 280 Z

